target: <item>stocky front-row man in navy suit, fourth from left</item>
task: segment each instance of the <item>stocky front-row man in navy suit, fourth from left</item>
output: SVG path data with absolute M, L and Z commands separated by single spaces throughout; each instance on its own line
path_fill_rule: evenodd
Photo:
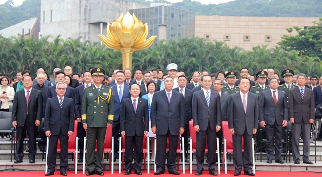
M 151 105 L 151 128 L 157 137 L 155 175 L 165 171 L 167 138 L 169 138 L 169 151 L 167 167 L 170 174 L 179 175 L 175 170 L 176 148 L 178 136 L 184 132 L 185 127 L 185 99 L 182 94 L 173 92 L 174 80 L 171 76 L 164 79 L 165 89 L 155 92 Z

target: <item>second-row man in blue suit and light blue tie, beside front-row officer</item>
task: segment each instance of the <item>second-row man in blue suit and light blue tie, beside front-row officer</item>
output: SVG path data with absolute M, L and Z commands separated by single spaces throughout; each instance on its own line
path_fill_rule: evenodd
M 112 91 L 114 94 L 114 121 L 113 121 L 113 137 L 114 137 L 114 161 L 118 155 L 119 142 L 118 137 L 120 137 L 120 114 L 122 110 L 122 101 L 124 99 L 130 98 L 129 86 L 124 84 L 124 72 L 119 70 L 115 73 L 116 84 L 112 86 Z

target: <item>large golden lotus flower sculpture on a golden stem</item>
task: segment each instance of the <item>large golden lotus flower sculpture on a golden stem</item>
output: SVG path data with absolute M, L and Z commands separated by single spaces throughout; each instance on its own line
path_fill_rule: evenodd
M 112 24 L 107 23 L 107 37 L 98 35 L 105 46 L 115 50 L 121 50 L 123 60 L 123 70 L 129 68 L 132 70 L 132 55 L 134 51 L 149 48 L 157 36 L 149 34 L 148 24 L 143 24 L 138 20 L 134 13 L 133 16 L 127 12 L 123 13 Z

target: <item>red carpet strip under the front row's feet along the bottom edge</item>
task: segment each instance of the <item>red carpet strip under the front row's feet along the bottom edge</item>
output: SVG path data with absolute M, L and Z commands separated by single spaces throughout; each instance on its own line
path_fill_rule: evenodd
M 114 171 L 114 174 L 111 174 L 110 171 L 104 171 L 104 175 L 108 175 L 109 177 L 151 177 L 154 176 L 153 171 L 150 171 L 150 174 L 147 174 L 147 171 L 142 171 L 142 175 L 136 175 L 134 173 L 130 175 L 124 175 L 124 171 L 122 171 L 121 174 L 118 173 L 118 171 Z M 181 174 L 179 177 L 196 177 L 194 175 L 195 171 L 193 171 L 193 174 L 190 174 L 189 171 L 186 171 L 186 174 Z M 74 171 L 67 171 L 68 176 L 67 177 L 85 177 L 86 174 L 82 174 L 82 171 L 78 171 L 78 174 L 75 174 Z M 87 173 L 87 172 L 86 172 Z M 0 177 L 44 177 L 45 172 L 44 171 L 1 171 Z M 227 174 L 221 173 L 218 176 L 225 176 L 225 177 L 234 177 L 233 171 L 228 171 Z M 243 172 L 242 172 L 243 174 Z M 201 176 L 208 176 L 207 171 L 204 171 L 204 174 Z M 321 177 L 322 173 L 315 173 L 315 172 L 276 172 L 276 171 L 257 171 L 255 177 Z M 59 171 L 55 171 L 55 175 L 52 175 L 50 177 L 63 177 L 59 174 Z M 93 175 L 92 177 L 98 177 L 98 175 Z M 162 175 L 158 175 L 155 177 L 176 177 L 175 175 L 170 175 L 166 171 Z M 248 177 L 246 175 L 240 175 L 240 177 Z

